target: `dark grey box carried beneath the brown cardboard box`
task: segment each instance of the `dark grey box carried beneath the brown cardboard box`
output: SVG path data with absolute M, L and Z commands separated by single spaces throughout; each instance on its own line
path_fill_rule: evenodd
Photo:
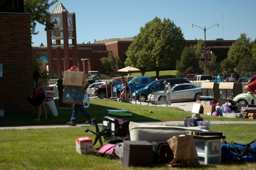
M 64 87 L 63 103 L 83 104 L 84 88 L 83 87 Z

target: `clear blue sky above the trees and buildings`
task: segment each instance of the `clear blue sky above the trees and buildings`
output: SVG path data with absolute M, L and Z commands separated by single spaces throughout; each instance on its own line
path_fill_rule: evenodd
M 77 43 L 93 43 L 110 38 L 133 37 L 140 27 L 155 17 L 169 18 L 181 28 L 186 40 L 223 38 L 236 40 L 246 33 L 256 38 L 255 0 L 60 0 L 69 13 L 76 13 Z M 54 4 L 50 12 L 57 6 Z M 222 17 L 223 16 L 223 17 Z M 223 19 L 222 19 L 223 18 Z M 47 45 L 44 26 L 37 24 L 39 34 L 32 37 L 33 46 Z

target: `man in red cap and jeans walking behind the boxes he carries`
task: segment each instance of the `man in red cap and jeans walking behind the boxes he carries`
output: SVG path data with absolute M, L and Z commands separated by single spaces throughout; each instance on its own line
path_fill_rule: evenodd
M 78 68 L 76 66 L 72 66 L 68 71 L 78 71 Z M 84 94 L 86 94 L 86 89 L 89 87 L 89 82 L 86 80 L 86 86 L 84 88 Z M 76 119 L 78 116 L 78 112 L 81 112 L 82 115 L 84 116 L 86 120 L 86 122 L 84 124 L 89 124 L 92 121 L 92 116 L 86 112 L 86 110 L 83 107 L 83 104 L 74 104 L 74 109 L 73 109 L 73 113 L 71 116 L 71 121 L 67 123 L 67 125 L 71 125 L 71 126 L 76 126 Z

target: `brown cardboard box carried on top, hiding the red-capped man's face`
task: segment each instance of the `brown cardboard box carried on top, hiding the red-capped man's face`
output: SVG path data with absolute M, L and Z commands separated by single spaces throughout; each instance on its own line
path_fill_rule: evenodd
M 65 71 L 62 85 L 85 88 L 86 74 L 84 72 Z

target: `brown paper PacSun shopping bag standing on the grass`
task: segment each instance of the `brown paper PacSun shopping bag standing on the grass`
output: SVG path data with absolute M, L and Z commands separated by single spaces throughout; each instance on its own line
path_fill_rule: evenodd
M 173 152 L 169 166 L 198 166 L 198 156 L 193 136 L 179 135 L 167 140 Z

